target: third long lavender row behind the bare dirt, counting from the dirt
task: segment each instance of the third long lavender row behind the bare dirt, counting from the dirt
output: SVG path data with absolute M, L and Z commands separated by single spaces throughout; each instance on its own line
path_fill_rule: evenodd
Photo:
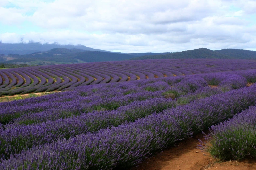
M 22 106 L 4 107 L 0 111 L 0 122 L 5 125 L 10 121 L 18 122 L 35 122 L 47 121 L 48 119 L 60 119 L 73 115 L 80 115 L 83 112 L 90 112 L 93 110 L 113 110 L 120 106 L 127 105 L 136 100 L 146 100 L 148 98 L 160 97 L 162 94 L 159 92 L 139 92 L 128 94 L 120 97 L 112 97 L 108 100 L 95 97 L 90 98 L 76 98 L 68 102 L 42 102 L 37 104 L 28 104 Z M 16 120 L 18 119 L 18 120 Z

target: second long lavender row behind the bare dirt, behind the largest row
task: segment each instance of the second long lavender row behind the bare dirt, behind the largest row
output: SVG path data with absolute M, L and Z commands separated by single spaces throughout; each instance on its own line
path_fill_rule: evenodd
M 118 126 L 126 121 L 134 122 L 138 118 L 173 106 L 175 104 L 172 99 L 154 98 L 143 102 L 135 101 L 113 111 L 92 112 L 38 125 L 15 126 L 14 128 L 9 126 L 5 131 L 0 130 L 0 155 L 5 155 L 7 158 L 10 154 L 19 153 L 22 149 L 31 148 L 33 145 L 51 143 L 62 138 L 68 139 L 86 132 Z

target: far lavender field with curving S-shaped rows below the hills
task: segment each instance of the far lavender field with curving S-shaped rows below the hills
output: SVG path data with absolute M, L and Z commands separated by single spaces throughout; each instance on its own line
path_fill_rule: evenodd
M 99 83 L 255 68 L 255 60 L 162 59 L 1 69 L 0 96 L 61 91 Z

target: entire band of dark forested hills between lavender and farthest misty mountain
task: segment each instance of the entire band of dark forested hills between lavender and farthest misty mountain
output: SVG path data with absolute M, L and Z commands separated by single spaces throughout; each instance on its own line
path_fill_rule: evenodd
M 0 62 L 11 64 L 55 65 L 87 62 L 105 62 L 120 60 L 145 59 L 180 59 L 180 58 L 223 58 L 223 59 L 256 59 L 256 51 L 223 49 L 210 50 L 206 48 L 187 50 L 182 52 L 165 53 L 113 53 L 89 51 L 84 49 L 53 48 L 44 52 L 32 54 L 0 55 Z

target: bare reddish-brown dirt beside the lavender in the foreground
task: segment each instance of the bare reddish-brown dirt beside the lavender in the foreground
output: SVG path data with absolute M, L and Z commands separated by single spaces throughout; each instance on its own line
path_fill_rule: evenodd
M 177 146 L 165 149 L 163 152 L 145 160 L 139 166 L 130 170 L 253 170 L 256 160 L 227 161 L 219 163 L 208 153 L 197 149 L 198 139 L 204 140 L 199 134 L 193 138 L 179 142 Z

